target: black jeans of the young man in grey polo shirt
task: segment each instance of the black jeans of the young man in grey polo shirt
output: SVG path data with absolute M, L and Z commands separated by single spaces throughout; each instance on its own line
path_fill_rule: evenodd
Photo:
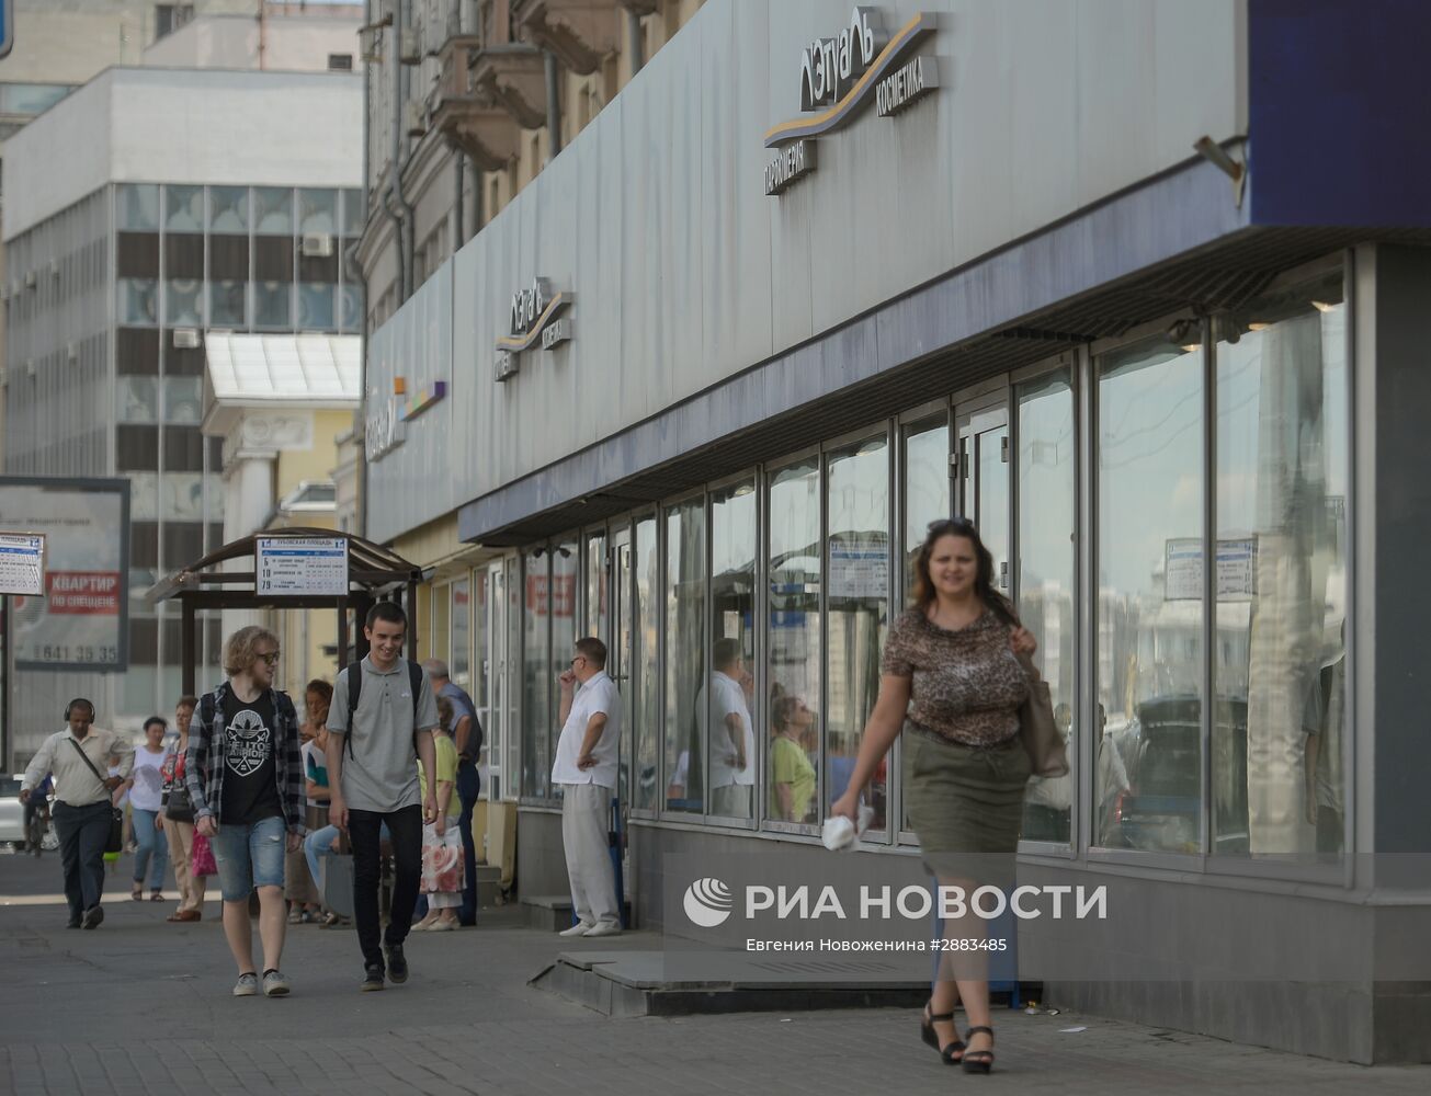
M 392 846 L 392 909 L 386 939 L 378 914 L 378 887 L 382 883 L 379 828 L 388 823 Z M 408 939 L 412 909 L 418 904 L 422 883 L 422 807 L 412 804 L 391 814 L 348 811 L 348 840 L 353 847 L 353 924 L 366 964 L 382 963 L 382 944 L 389 947 Z

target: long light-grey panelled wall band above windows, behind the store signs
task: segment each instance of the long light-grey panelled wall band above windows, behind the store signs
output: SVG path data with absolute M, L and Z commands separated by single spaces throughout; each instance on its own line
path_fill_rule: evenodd
M 899 0 L 880 6 L 886 30 L 940 13 L 923 52 L 942 87 L 896 119 L 870 106 L 820 140 L 810 177 L 767 197 L 763 136 L 798 113 L 801 49 L 851 6 L 710 0 L 467 245 L 448 402 L 471 452 L 449 492 L 404 495 L 372 535 L 641 422 L 1192 157 L 1203 133 L 1238 136 L 1245 117 L 1238 0 Z M 495 383 L 509 298 L 537 275 L 575 292 L 574 339 Z M 384 464 L 422 459 L 412 438 L 435 422 Z

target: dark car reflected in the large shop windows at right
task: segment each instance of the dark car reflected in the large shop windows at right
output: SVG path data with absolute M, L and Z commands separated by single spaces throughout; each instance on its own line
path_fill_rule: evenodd
M 1198 853 L 1202 808 L 1202 700 L 1169 695 L 1145 700 L 1136 710 L 1123 763 L 1129 790 L 1115 813 L 1123 848 Z M 1215 853 L 1248 848 L 1248 705 L 1219 697 L 1213 734 Z M 1228 734 L 1228 728 L 1232 734 Z

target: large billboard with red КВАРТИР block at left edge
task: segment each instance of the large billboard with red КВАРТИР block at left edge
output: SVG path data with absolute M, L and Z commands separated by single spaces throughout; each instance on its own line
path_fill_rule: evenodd
M 0 476 L 0 529 L 44 537 L 44 595 L 11 595 L 17 670 L 129 665 L 129 481 Z

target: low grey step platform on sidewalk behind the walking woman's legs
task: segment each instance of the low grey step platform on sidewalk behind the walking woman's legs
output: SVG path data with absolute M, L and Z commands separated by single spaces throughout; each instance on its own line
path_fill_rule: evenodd
M 810 964 L 810 970 L 753 960 L 731 953 L 674 960 L 670 951 L 565 951 L 528 984 L 617 1017 L 910 1009 L 929 997 L 927 982 L 893 970 L 881 979 L 869 960 L 851 964 L 850 972 L 841 972 L 839 960 Z

